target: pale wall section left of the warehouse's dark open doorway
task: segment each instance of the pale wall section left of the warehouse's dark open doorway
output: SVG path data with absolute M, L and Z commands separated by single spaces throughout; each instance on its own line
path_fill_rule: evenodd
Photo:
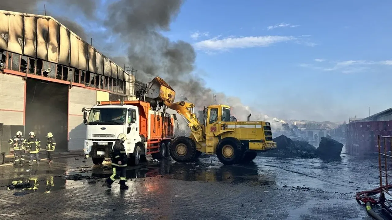
M 24 124 L 25 81 L 20 76 L 0 74 L 0 123 Z

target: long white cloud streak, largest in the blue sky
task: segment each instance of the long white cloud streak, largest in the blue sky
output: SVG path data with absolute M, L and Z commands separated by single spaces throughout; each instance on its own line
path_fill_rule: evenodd
M 231 36 L 222 39 L 220 39 L 220 36 L 216 36 L 209 40 L 194 43 L 194 47 L 198 50 L 228 50 L 233 48 L 268 47 L 275 43 L 287 42 L 295 39 L 296 38 L 293 36 Z

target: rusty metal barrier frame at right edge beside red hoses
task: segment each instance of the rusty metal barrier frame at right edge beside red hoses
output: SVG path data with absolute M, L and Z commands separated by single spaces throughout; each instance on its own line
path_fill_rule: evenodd
M 388 146 L 387 146 L 388 145 Z M 392 173 L 388 173 L 388 163 L 392 163 L 392 137 L 391 136 L 377 136 L 377 148 L 378 148 L 378 168 L 380 172 L 380 199 L 379 203 L 392 215 L 392 204 L 385 198 L 385 193 L 392 197 L 392 190 L 388 187 L 388 177 L 392 179 Z M 389 154 L 388 154 L 389 151 Z M 383 161 L 382 161 L 383 160 Z M 383 167 L 384 166 L 384 167 Z M 385 179 L 385 181 L 384 181 Z M 385 183 L 384 183 L 385 182 Z M 392 181 L 390 181 L 392 182 Z M 392 184 L 390 184 L 392 185 Z M 385 204 L 385 202 L 387 204 Z

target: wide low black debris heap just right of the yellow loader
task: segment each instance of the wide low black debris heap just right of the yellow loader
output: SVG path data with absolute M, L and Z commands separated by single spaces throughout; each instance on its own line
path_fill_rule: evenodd
M 281 158 L 316 158 L 316 148 L 307 141 L 293 141 L 285 135 L 274 138 L 276 149 L 261 152 L 260 156 Z

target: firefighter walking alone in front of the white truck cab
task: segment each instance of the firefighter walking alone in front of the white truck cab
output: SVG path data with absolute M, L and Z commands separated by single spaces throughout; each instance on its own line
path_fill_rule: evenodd
M 125 185 L 126 168 L 127 168 L 127 154 L 125 153 L 124 141 L 127 139 L 125 133 L 120 133 L 112 148 L 112 167 L 113 174 L 105 180 L 106 186 L 112 188 L 116 176 L 120 176 L 120 189 L 128 189 Z

